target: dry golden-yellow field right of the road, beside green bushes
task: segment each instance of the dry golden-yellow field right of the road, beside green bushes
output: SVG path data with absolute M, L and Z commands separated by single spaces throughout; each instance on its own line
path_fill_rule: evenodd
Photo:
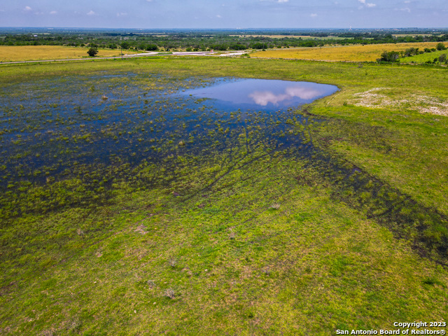
M 255 52 L 251 54 L 251 57 L 310 59 L 317 61 L 370 62 L 379 58 L 381 52 L 384 50 L 400 51 L 411 47 L 420 48 L 423 50 L 423 48 L 435 48 L 435 45 L 437 45 L 437 42 L 294 48 Z

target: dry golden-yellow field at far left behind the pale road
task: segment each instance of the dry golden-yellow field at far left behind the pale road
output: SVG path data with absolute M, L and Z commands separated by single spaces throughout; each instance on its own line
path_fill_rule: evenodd
M 132 54 L 135 52 L 126 51 Z M 119 56 L 120 50 L 99 49 L 97 57 Z M 43 59 L 73 59 L 87 56 L 87 48 L 59 45 L 0 45 L 0 62 L 34 61 Z

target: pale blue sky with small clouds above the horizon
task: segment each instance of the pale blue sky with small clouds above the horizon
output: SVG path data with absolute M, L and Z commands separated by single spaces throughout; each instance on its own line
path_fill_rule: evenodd
M 448 27 L 448 0 L 0 0 L 0 27 Z

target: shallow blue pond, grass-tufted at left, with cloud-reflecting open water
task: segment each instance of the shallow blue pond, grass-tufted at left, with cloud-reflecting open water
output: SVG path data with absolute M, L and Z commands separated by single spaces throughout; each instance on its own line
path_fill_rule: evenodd
M 0 184 L 48 183 L 60 174 L 73 175 L 73 166 L 116 165 L 118 159 L 134 166 L 173 155 L 205 155 L 232 148 L 243 133 L 247 151 L 300 145 L 304 134 L 292 124 L 300 122 L 303 133 L 308 118 L 288 108 L 337 90 L 286 80 L 173 83 L 151 76 L 135 83 L 135 77 L 73 76 L 1 92 Z

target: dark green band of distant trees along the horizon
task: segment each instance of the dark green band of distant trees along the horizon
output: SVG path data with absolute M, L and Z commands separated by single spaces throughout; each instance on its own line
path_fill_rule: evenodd
M 235 34 L 235 32 L 233 32 Z M 126 50 L 245 50 L 291 47 L 319 47 L 323 45 L 353 45 L 380 43 L 444 42 L 448 34 L 394 36 L 381 32 L 310 32 L 310 38 L 284 32 L 284 37 L 232 35 L 221 32 L 171 32 L 169 34 L 134 33 L 55 33 L 5 34 L 0 45 L 71 45 Z M 306 33 L 304 33 L 306 34 Z

